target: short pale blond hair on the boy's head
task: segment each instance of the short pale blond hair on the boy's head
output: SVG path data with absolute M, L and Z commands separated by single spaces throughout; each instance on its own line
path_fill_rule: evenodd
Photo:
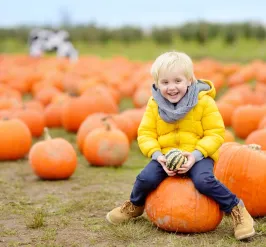
M 176 67 L 184 70 L 187 79 L 192 79 L 192 82 L 196 81 L 191 58 L 183 52 L 171 51 L 161 54 L 152 64 L 151 75 L 155 83 L 158 83 L 160 72 L 171 71 Z

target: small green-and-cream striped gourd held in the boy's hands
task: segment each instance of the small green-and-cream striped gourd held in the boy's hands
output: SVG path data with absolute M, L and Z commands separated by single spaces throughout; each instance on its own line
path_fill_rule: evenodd
M 187 157 L 182 154 L 182 151 L 178 149 L 171 149 L 165 154 L 166 167 L 170 171 L 177 171 L 183 164 L 187 162 Z

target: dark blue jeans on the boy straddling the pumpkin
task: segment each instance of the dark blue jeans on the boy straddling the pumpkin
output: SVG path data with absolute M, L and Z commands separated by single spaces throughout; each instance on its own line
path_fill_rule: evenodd
M 239 199 L 215 178 L 213 164 L 211 158 L 202 159 L 195 163 L 187 174 L 200 193 L 216 201 L 222 211 L 230 213 L 232 208 L 239 203 Z M 167 177 L 161 164 L 151 160 L 137 176 L 130 201 L 136 206 L 143 206 L 147 195 Z

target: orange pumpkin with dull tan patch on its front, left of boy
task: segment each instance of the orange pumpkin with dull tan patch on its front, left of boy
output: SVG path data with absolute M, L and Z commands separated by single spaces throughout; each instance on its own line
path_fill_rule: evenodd
M 129 153 L 129 141 L 124 132 L 106 127 L 91 131 L 83 143 L 83 154 L 87 161 L 96 166 L 121 166 Z

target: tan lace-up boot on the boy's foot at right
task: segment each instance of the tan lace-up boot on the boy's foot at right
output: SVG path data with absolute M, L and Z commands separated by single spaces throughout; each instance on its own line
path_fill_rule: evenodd
M 254 220 L 240 201 L 231 212 L 234 223 L 235 238 L 242 240 L 255 235 Z

